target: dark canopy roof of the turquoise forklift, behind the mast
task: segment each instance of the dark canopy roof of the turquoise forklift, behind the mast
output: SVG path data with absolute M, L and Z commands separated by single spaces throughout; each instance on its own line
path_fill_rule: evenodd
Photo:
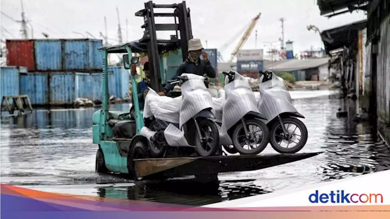
M 177 42 L 158 42 L 158 52 L 165 53 L 168 51 L 173 51 L 179 48 Z M 125 42 L 123 44 L 117 44 L 112 46 L 103 46 L 99 49 L 107 50 L 108 53 L 127 53 L 126 46 L 129 46 L 131 51 L 134 53 L 147 52 L 147 41 L 145 39 Z

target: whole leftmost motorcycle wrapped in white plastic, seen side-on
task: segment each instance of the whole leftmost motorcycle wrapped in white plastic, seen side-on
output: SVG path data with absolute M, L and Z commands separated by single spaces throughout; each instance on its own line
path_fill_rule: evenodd
M 159 96 L 149 88 L 145 97 L 145 127 L 141 134 L 151 141 L 151 155 L 161 157 L 168 146 L 193 147 L 200 156 L 214 155 L 219 133 L 204 77 L 182 74 L 168 83 L 179 83 L 181 96 Z

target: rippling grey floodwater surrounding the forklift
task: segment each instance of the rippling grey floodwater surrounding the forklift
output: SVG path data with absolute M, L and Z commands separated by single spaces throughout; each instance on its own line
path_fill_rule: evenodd
M 355 102 L 329 94 L 324 90 L 291 92 L 308 129 L 307 145 L 300 152 L 323 154 L 263 170 L 220 174 L 218 184 L 206 185 L 189 179 L 134 184 L 95 174 L 94 108 L 35 110 L 24 117 L 4 117 L 0 182 L 57 193 L 206 205 L 390 169 L 389 148 L 382 141 L 372 141 L 367 122 L 353 122 Z M 112 107 L 128 110 L 128 104 Z M 350 112 L 349 117 L 336 117 L 340 107 Z M 263 153 L 276 152 L 269 146 Z

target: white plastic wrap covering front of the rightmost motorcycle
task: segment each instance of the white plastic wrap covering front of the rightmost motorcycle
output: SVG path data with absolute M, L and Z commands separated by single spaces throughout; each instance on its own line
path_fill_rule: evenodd
M 262 81 L 264 76 L 261 76 Z M 281 113 L 298 112 L 291 103 L 290 93 L 287 91 L 284 80 L 272 73 L 272 79 L 259 86 L 260 94 L 257 99 L 259 111 L 271 121 Z

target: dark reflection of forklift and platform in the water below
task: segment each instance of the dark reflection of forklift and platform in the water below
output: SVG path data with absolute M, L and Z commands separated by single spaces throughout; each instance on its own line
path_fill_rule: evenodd
M 141 200 L 181 205 L 207 205 L 244 198 L 267 191 L 253 184 L 254 180 L 199 183 L 191 180 L 148 182 L 125 187 L 99 187 L 100 197 L 120 200 Z

